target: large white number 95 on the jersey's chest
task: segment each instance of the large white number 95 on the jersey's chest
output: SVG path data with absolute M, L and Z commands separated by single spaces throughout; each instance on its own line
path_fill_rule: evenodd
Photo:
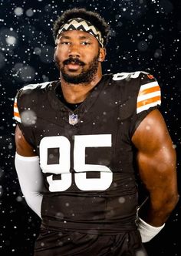
M 59 163 L 48 164 L 48 149 L 59 148 Z M 74 136 L 74 179 L 80 190 L 107 190 L 113 180 L 113 173 L 104 165 L 86 164 L 86 147 L 111 147 L 111 134 Z M 71 187 L 71 143 L 65 136 L 47 136 L 40 143 L 40 165 L 47 177 L 51 192 L 64 191 Z M 86 172 L 100 172 L 100 178 L 86 178 Z M 61 180 L 53 180 L 53 174 L 61 174 Z

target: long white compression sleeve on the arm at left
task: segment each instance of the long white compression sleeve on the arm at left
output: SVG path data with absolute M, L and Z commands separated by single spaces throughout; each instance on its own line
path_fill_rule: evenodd
M 41 217 L 43 196 L 43 176 L 39 165 L 39 157 L 22 157 L 15 153 L 15 169 L 22 194 L 29 207 Z

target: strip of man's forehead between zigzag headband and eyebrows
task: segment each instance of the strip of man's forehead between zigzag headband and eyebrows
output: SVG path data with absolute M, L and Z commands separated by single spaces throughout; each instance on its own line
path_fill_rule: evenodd
M 91 35 L 90 33 L 81 31 L 81 30 L 68 30 L 60 35 L 60 39 L 69 38 L 69 39 L 91 39 L 94 42 L 98 42 L 97 39 L 94 37 L 94 35 Z

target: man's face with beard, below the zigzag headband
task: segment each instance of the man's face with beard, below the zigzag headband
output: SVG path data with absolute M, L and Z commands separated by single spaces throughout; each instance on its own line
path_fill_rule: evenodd
M 62 33 L 54 52 L 61 76 L 67 83 L 73 84 L 90 83 L 98 72 L 99 58 L 97 39 L 79 30 Z

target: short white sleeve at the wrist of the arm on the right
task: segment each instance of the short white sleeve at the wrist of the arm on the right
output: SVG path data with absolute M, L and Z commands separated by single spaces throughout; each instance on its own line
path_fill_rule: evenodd
M 158 234 L 163 229 L 164 226 L 165 224 L 163 224 L 160 227 L 153 227 L 150 224 L 143 221 L 140 217 L 138 217 L 137 219 L 137 227 L 138 230 L 140 231 L 141 240 L 143 243 L 146 243 L 150 241 L 153 237 L 155 237 L 156 234 Z

